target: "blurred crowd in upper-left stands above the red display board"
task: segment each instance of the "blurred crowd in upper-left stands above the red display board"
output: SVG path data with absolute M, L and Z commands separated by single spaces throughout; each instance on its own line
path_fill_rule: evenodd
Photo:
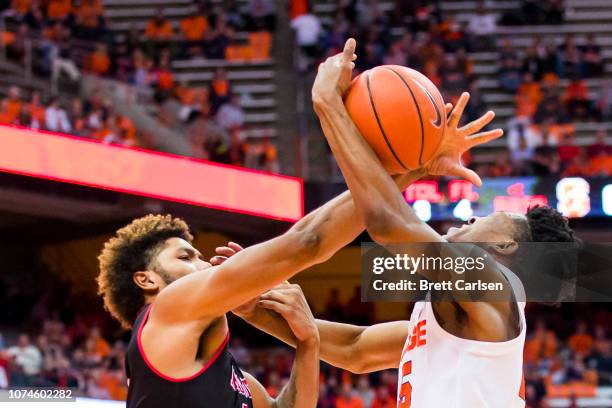
M 125 82 L 139 94 L 152 95 L 155 119 L 160 124 L 179 125 L 187 132 L 193 157 L 278 172 L 272 135 L 244 136 L 242 100 L 233 94 L 224 69 L 218 69 L 210 83 L 194 85 L 176 81 L 172 68 L 176 60 L 269 58 L 271 32 L 276 26 L 273 2 L 252 0 L 239 6 L 236 1 L 213 5 L 194 0 L 190 10 L 178 24 L 173 24 L 164 9 L 159 8 L 143 30 L 132 25 L 127 33 L 119 34 L 108 29 L 100 0 L 16 0 L 2 12 L 9 27 L 4 39 L 9 58 L 24 64 L 27 58 L 32 58 L 35 73 L 53 81 L 78 83 L 83 73 L 89 73 Z M 246 43 L 236 42 L 236 32 L 248 32 Z M 33 55 L 28 54 L 28 41 Z M 33 93 L 32 98 L 40 103 L 39 94 Z M 60 126 L 50 125 L 42 116 L 31 120 L 21 117 L 22 112 L 15 115 L 10 109 L 8 115 L 3 109 L 2 123 L 155 148 L 150 137 L 137 134 L 132 128 L 127 137 L 115 135 L 119 132 L 114 129 L 121 128 L 129 119 L 122 116 L 116 120 L 107 112 L 108 107 L 100 124 L 84 121 L 80 126 L 78 117 L 73 118 L 79 115 L 70 113 L 74 104 L 64 112 L 61 101 L 48 99 L 43 109 L 49 110 L 51 102 L 59 104 L 54 109 L 59 111 Z M 179 104 L 179 109 L 172 113 L 162 109 L 168 101 Z M 85 116 L 97 111 L 97 106 L 90 108 L 96 105 L 95 101 L 82 101 L 81 105 Z M 109 136 L 101 136 L 105 133 Z

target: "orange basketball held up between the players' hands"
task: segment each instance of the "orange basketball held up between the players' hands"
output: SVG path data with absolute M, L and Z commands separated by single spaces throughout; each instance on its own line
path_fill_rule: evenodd
M 344 104 L 357 128 L 389 173 L 426 163 L 446 127 L 444 100 L 423 74 L 382 65 L 353 79 Z

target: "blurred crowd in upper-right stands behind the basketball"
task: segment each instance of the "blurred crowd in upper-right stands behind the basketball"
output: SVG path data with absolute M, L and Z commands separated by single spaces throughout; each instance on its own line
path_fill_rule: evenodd
M 312 68 L 319 59 L 339 52 L 352 36 L 360 49 L 358 73 L 381 64 L 409 66 L 423 72 L 451 103 L 468 90 L 471 99 L 464 114 L 468 122 L 489 109 L 469 53 L 498 51 L 499 87 L 515 100 L 515 117 L 505 127 L 507 148 L 480 162 L 468 152 L 464 164 L 485 177 L 612 174 L 606 127 L 595 127 L 588 141 L 577 142 L 574 125 L 612 119 L 610 82 L 604 80 L 598 93 L 591 92 L 587 82 L 602 78 L 604 72 L 595 36 L 567 34 L 558 46 L 535 38 L 524 53 L 509 39 L 497 46 L 498 24 L 562 23 L 562 0 L 524 0 L 519 10 L 501 17 L 480 1 L 476 12 L 462 22 L 443 14 L 436 2 L 396 2 L 391 12 L 377 1 L 337 4 L 328 26 L 307 11 L 292 20 L 301 54 L 308 61 L 300 68 Z M 398 37 L 399 32 L 403 34 Z

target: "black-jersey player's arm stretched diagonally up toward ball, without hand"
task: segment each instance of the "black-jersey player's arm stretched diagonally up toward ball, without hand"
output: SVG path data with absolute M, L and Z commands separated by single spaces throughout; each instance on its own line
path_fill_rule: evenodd
M 421 171 L 406 173 L 391 183 L 399 191 L 398 186 L 403 188 L 421 175 Z M 176 280 L 157 296 L 152 317 L 161 313 L 165 321 L 178 322 L 221 316 L 296 273 L 326 261 L 354 240 L 364 229 L 355 215 L 347 191 L 281 236 L 240 251 L 222 265 Z

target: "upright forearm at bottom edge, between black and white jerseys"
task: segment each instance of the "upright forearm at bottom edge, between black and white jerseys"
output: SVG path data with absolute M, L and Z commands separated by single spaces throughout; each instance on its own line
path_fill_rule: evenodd
M 319 396 L 319 342 L 299 342 L 291 378 L 276 398 L 277 408 L 315 408 Z

